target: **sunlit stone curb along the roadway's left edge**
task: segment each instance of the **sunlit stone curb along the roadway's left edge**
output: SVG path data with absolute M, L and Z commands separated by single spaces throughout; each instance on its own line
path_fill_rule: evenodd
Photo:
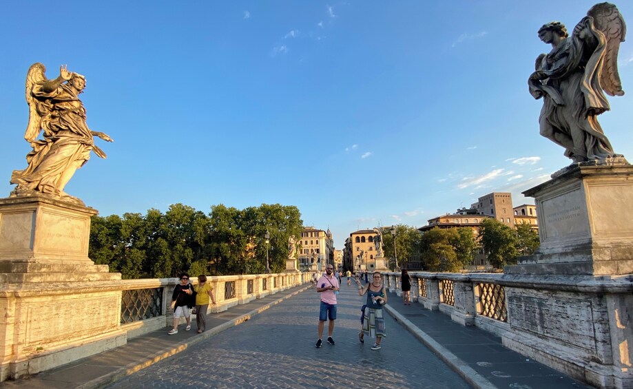
M 260 306 L 256 309 L 253 309 L 253 311 L 245 313 L 244 315 L 236 317 L 235 319 L 231 319 L 229 322 L 226 322 L 226 323 L 220 324 L 219 326 L 211 328 L 210 330 L 207 330 L 204 333 L 196 335 L 195 337 L 191 337 L 189 339 L 180 341 L 174 344 L 174 346 L 172 348 L 169 348 L 168 350 L 160 351 L 158 353 L 154 353 L 153 355 L 149 355 L 147 359 L 141 362 L 134 362 L 127 366 L 123 366 L 122 368 L 118 368 L 113 372 L 107 373 L 106 375 L 87 381 L 83 383 L 83 385 L 81 386 L 76 386 L 76 388 L 77 389 L 104 388 L 105 386 L 115 383 L 116 381 L 120 381 L 121 379 L 127 377 L 128 375 L 133 374 L 134 372 L 137 372 L 138 370 L 143 370 L 144 368 L 147 368 L 149 366 L 152 366 L 153 364 L 156 364 L 156 362 L 160 362 L 163 359 L 167 359 L 171 357 L 172 355 L 176 355 L 182 351 L 185 351 L 187 350 L 187 348 L 189 348 L 189 346 L 198 344 L 200 343 L 200 341 L 205 341 L 206 339 L 209 339 L 209 337 L 212 337 L 214 335 L 217 335 L 218 333 L 221 333 L 223 330 L 227 330 L 231 327 L 238 326 L 244 322 L 247 322 L 254 315 L 257 315 L 258 313 L 262 313 L 266 311 L 271 306 L 274 306 L 284 301 L 284 299 L 289 299 L 290 297 L 293 297 L 294 295 L 298 295 L 299 293 L 307 291 L 307 289 L 309 288 L 311 288 L 310 284 L 308 284 L 307 286 L 304 286 L 303 288 L 300 288 L 298 291 L 294 291 L 293 293 L 290 293 L 289 295 L 280 297 L 279 299 L 276 299 L 273 302 L 269 302 L 268 304 L 264 306 Z

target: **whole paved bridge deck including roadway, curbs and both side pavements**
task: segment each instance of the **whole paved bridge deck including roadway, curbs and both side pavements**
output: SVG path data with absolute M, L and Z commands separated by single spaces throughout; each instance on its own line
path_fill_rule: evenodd
M 154 331 L 125 346 L 28 379 L 26 388 L 590 388 L 501 345 L 484 330 L 464 327 L 389 294 L 387 337 L 373 351 L 360 344 L 362 297 L 343 282 L 335 346 L 315 348 L 319 297 L 309 285 L 210 314 L 177 335 Z M 326 326 L 327 327 L 327 326 Z M 326 334 L 324 334 L 324 338 Z M 325 339 L 323 339 L 325 340 Z

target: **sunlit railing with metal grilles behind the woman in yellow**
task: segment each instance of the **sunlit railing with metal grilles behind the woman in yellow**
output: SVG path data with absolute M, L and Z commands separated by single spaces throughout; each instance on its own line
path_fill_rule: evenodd
M 256 275 L 222 275 L 207 277 L 213 286 L 216 305 L 209 306 L 209 313 L 226 311 L 231 306 L 247 304 L 309 282 L 311 273 L 278 273 Z M 178 278 L 153 280 L 121 280 L 121 330 L 127 339 L 143 335 L 173 324 L 174 313 L 169 308 Z M 192 284 L 198 284 L 191 277 Z M 181 320 L 184 320 L 181 319 Z

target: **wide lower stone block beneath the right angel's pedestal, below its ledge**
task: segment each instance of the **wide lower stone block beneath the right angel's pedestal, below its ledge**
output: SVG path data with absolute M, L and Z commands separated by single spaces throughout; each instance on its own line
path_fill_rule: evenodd
M 504 275 L 504 346 L 599 388 L 633 388 L 632 281 Z

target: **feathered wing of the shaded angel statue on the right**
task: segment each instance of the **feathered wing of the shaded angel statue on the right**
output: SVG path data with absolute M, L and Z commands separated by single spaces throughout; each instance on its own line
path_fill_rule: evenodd
M 599 3 L 588 12 L 593 18 L 594 28 L 602 32 L 606 39 L 605 56 L 600 72 L 600 86 L 609 96 L 623 96 L 622 83 L 618 73 L 618 52 L 620 42 L 626 35 L 626 23 L 618 8 L 611 3 Z

